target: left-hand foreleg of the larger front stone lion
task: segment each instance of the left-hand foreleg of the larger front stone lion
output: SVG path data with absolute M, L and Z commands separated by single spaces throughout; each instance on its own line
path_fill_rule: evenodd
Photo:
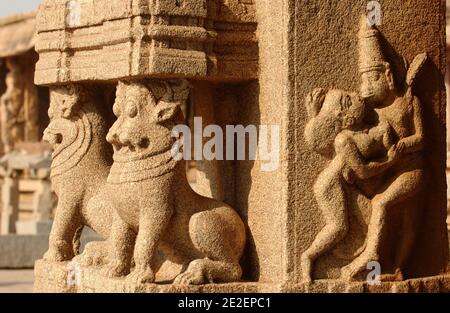
M 111 233 L 108 238 L 108 263 L 103 268 L 107 277 L 121 277 L 130 272 L 135 232 L 114 210 Z

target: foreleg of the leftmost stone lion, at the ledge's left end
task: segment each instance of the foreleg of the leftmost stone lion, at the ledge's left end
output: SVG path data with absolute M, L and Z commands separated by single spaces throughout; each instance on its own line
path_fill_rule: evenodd
M 75 233 L 82 226 L 79 203 L 64 197 L 59 200 L 44 260 L 63 262 L 74 257 Z

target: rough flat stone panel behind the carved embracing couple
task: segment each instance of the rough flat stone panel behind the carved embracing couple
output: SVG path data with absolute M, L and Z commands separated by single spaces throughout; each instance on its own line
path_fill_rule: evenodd
M 287 274 L 293 280 L 299 280 L 302 273 L 300 255 L 311 246 L 314 238 L 326 225 L 312 191 L 319 173 L 328 164 L 325 159 L 318 160 L 317 154 L 311 153 L 311 148 L 302 138 L 308 121 L 304 99 L 317 87 L 353 91 L 360 89 L 358 12 L 365 11 L 367 2 L 360 1 L 351 8 L 345 1 L 332 2 L 328 6 L 319 3 L 300 5 L 292 1 L 290 5 L 290 10 L 296 14 L 292 16 L 292 28 L 286 42 L 290 48 L 288 51 L 294 49 L 288 56 L 288 64 L 292 64 L 289 67 L 289 77 L 295 79 L 288 81 L 290 97 L 286 96 L 289 107 L 286 128 L 297 131 L 289 131 L 286 139 L 291 148 L 295 145 L 295 149 L 288 152 L 289 171 L 286 179 L 290 186 L 290 206 L 287 208 L 286 220 L 295 222 L 287 223 L 285 242 L 289 243 L 286 248 Z M 319 12 L 320 16 L 329 18 L 313 18 Z M 405 264 L 405 276 L 413 278 L 438 275 L 445 272 L 448 263 L 447 231 L 443 218 L 446 215 L 445 176 L 442 171 L 446 158 L 443 7 L 441 1 L 426 4 L 421 1 L 390 1 L 382 3 L 382 13 L 382 25 L 378 27 L 382 34 L 381 48 L 392 66 L 396 83 L 404 82 L 406 76 L 402 57 L 411 64 L 420 53 L 426 51 L 429 56 L 423 74 L 415 84 L 415 95 L 421 100 L 424 128 L 429 134 L 426 137 L 424 155 L 425 171 L 431 181 L 425 184 L 425 189 L 419 196 L 423 203 L 418 206 L 417 211 L 414 211 L 414 206 L 418 205 L 417 200 L 388 210 L 389 214 L 385 219 L 388 234 L 380 249 L 385 261 L 381 262 L 381 267 L 383 272 L 394 274 L 395 265 L 392 260 L 399 251 L 398 245 L 402 240 L 410 240 L 411 236 L 415 236 L 411 254 Z M 426 21 L 429 29 L 419 26 L 422 21 Z M 431 29 L 436 40 L 429 37 Z M 403 163 L 412 164 L 407 161 Z M 305 184 L 298 184 L 298 181 Z M 364 205 L 360 207 L 365 208 Z M 352 225 L 352 216 L 349 218 Z M 406 226 L 402 226 L 402 219 L 408 222 L 416 219 L 421 223 L 415 224 L 411 235 L 406 235 L 406 232 L 399 231 Z M 366 229 L 361 228 L 361 233 L 355 234 L 353 231 L 357 232 L 358 228 L 351 225 L 341 244 L 319 258 L 312 274 L 315 279 L 340 277 L 340 269 L 353 259 L 347 253 L 360 247 L 358 240 L 362 239 L 364 242 Z M 404 238 L 401 239 L 399 234 L 403 234 Z M 433 257 L 430 258 L 430 255 Z

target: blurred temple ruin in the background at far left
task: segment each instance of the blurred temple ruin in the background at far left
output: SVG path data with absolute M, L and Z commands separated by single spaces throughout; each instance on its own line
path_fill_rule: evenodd
M 50 186 L 48 88 L 34 84 L 36 13 L 0 19 L 0 268 L 32 267 L 47 247 Z

